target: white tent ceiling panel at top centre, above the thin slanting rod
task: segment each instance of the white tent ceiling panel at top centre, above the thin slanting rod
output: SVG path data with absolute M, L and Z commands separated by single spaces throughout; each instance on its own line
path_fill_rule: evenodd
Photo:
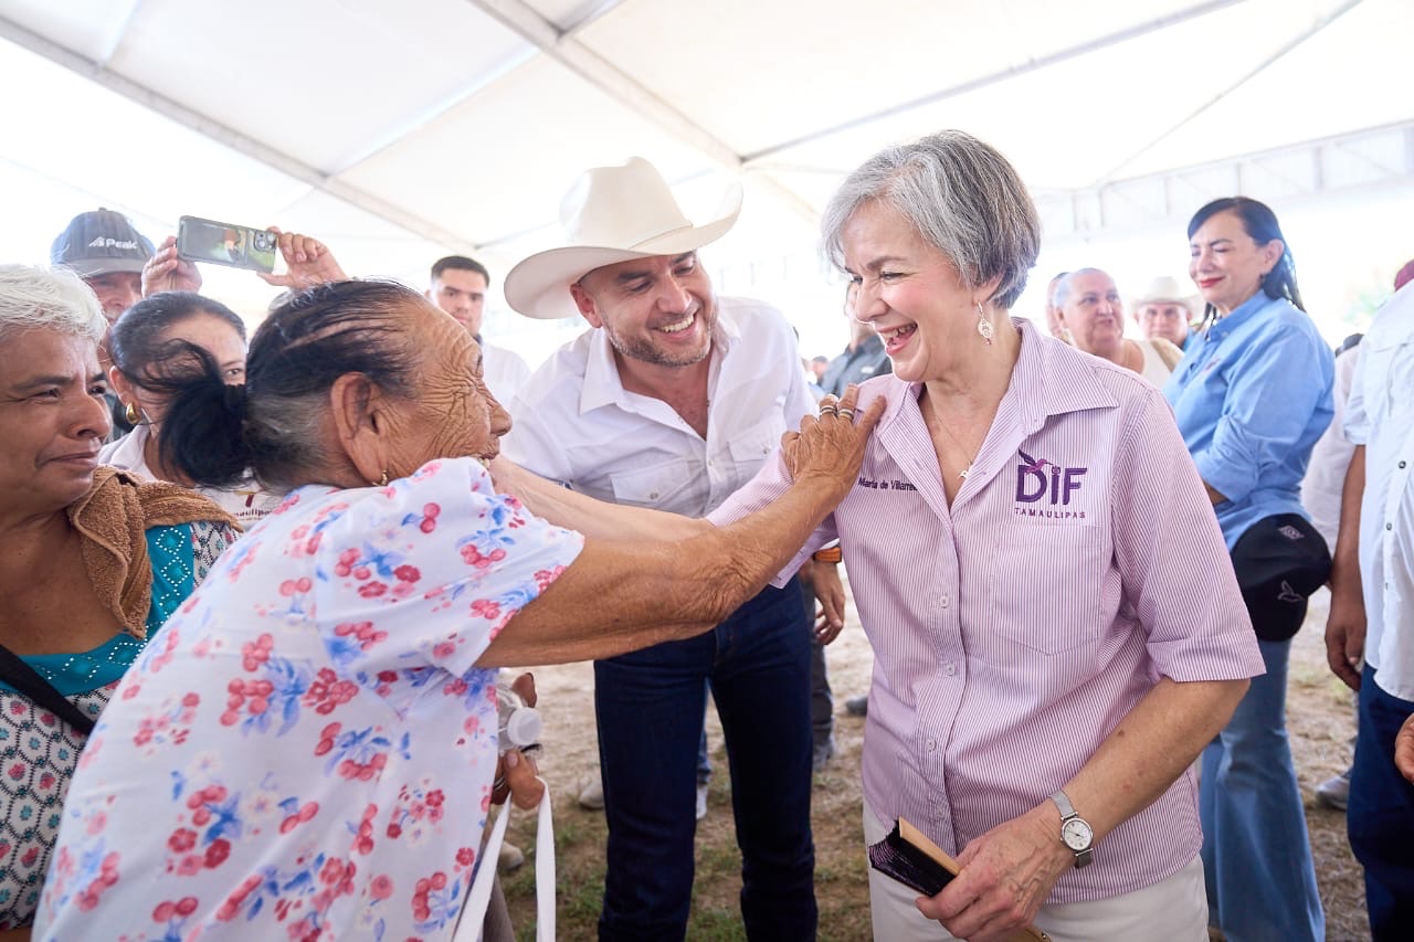
M 629 0 L 580 40 L 754 154 L 1195 6 L 1212 4 Z

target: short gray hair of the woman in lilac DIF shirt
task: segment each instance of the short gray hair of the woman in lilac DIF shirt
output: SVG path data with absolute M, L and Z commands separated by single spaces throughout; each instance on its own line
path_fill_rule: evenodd
M 990 144 L 959 130 L 929 134 L 870 157 L 824 209 L 824 249 L 843 267 L 850 216 L 880 201 L 947 256 L 967 287 L 1001 280 L 993 300 L 1010 310 L 1041 250 L 1041 221 L 1025 184 Z

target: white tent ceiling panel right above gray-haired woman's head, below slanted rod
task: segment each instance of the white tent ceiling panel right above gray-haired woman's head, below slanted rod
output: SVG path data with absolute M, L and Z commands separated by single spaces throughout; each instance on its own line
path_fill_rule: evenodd
M 1367 6 L 1397 6 L 1400 0 L 1366 0 Z M 1121 168 L 1117 177 L 1154 173 L 1212 160 L 1215 154 L 1270 150 L 1311 139 L 1314 123 L 1292 115 L 1271 120 L 1280 107 L 1312 109 L 1319 89 L 1301 96 L 1281 91 L 1282 78 L 1266 85 L 1271 72 L 1291 74 L 1312 81 L 1322 68 L 1322 52 L 1329 31 L 1346 18 L 1315 34 L 1314 38 L 1280 58 L 1271 69 L 1258 71 L 1241 82 L 1260 61 L 1309 33 L 1324 16 L 1338 8 L 1336 0 L 1304 3 L 1302 16 L 1278 17 L 1290 4 L 1282 0 L 1257 0 L 1226 7 L 1202 18 L 1189 20 L 1135 40 L 1097 50 L 1089 55 L 1049 65 L 963 96 L 946 99 L 877 122 L 846 129 L 790 147 L 762 161 L 766 168 L 803 165 L 816 168 L 854 167 L 887 141 L 911 139 L 939 127 L 962 127 L 997 146 L 1015 163 L 1035 190 L 1072 190 L 1089 187 Z M 1406 14 L 1398 14 L 1406 16 Z M 1398 34 L 1390 38 L 1397 41 Z M 1254 40 L 1253 37 L 1261 37 Z M 1203 50 L 1202 68 L 1189 68 L 1182 81 L 1172 72 L 1157 69 L 1155 62 L 1171 62 L 1174 48 Z M 1353 52 L 1340 52 L 1352 55 Z M 1408 71 L 1407 59 L 1390 71 Z M 1353 71 L 1352 71 L 1353 72 Z M 1346 78 L 1359 82 L 1359 78 Z M 1404 88 L 1414 85 L 1406 79 Z M 1220 98 L 1227 88 L 1236 89 Z M 1256 91 L 1253 91 L 1256 89 Z M 1244 107 L 1230 99 L 1247 96 Z M 1311 96 L 1316 95 L 1316 99 Z M 1198 119 L 1186 122 L 1205 103 L 1219 99 Z M 1267 100 L 1273 99 L 1273 100 Z M 1278 107 L 1280 105 L 1280 107 Z M 1321 109 L 1329 133 L 1366 126 L 1365 116 L 1377 113 L 1384 122 L 1396 112 L 1408 115 L 1408 102 L 1400 96 L 1379 96 L 1362 105 L 1353 117 L 1340 109 Z M 1168 133 L 1178 126 L 1178 130 Z M 1202 130 L 1195 132 L 1192 126 Z M 1232 146 L 1227 140 L 1232 140 Z M 1213 141 L 1223 144 L 1215 147 Z M 1143 170 L 1126 165 L 1131 154 L 1143 154 Z M 805 192 L 805 191 L 802 191 Z

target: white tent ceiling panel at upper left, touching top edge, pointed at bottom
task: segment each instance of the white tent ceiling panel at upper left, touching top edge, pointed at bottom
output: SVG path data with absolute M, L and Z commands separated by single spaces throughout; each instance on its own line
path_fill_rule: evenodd
M 519 37 L 455 0 L 147 0 L 110 65 L 335 174 L 526 55 Z

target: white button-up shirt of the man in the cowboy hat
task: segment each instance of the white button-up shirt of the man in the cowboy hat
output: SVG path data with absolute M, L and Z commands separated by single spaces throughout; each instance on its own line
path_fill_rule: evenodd
M 717 298 L 707 397 L 703 438 L 666 402 L 625 390 L 608 337 L 591 330 L 522 386 L 503 450 L 601 501 L 704 516 L 814 410 L 795 331 L 781 311 Z

